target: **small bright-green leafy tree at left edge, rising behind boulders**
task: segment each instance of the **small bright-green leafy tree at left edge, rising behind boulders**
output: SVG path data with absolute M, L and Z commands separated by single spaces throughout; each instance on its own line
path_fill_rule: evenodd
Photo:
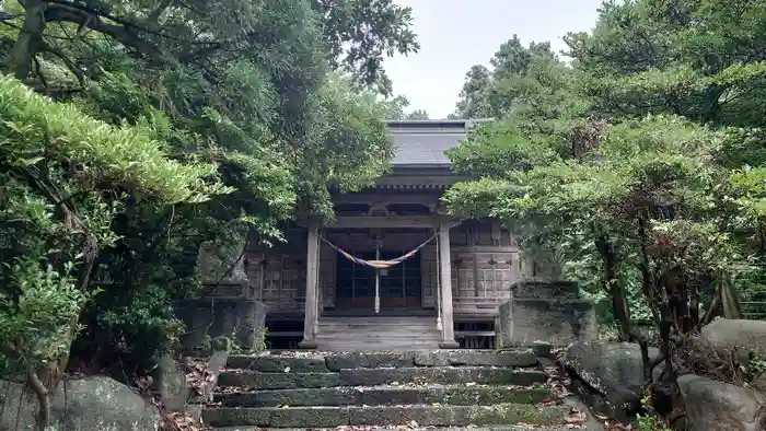
M 0 352 L 4 374 L 37 394 L 39 428 L 50 424 L 58 384 L 86 301 L 97 294 L 101 248 L 112 220 L 146 207 L 201 202 L 229 189 L 216 166 L 169 160 L 146 126 L 109 126 L 68 104 L 0 80 Z

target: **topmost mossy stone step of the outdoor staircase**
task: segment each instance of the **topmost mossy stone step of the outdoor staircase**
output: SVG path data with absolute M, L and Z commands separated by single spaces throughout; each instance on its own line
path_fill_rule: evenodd
M 232 354 L 229 369 L 278 373 L 328 372 L 341 369 L 414 366 L 508 366 L 532 368 L 538 364 L 532 350 L 420 350 L 401 353 L 379 352 L 292 352 L 275 354 Z

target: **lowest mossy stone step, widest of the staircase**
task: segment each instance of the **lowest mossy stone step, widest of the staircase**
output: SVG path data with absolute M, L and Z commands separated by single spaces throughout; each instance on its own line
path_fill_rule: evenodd
M 255 426 L 270 428 L 332 428 L 417 423 L 419 427 L 515 424 L 564 424 L 566 406 L 498 404 L 494 406 L 346 406 L 346 407 L 216 407 L 202 411 L 212 427 Z

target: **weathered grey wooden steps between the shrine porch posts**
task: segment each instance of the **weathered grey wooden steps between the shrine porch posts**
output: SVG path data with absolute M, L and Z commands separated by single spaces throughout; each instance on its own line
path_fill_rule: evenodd
M 322 351 L 406 351 L 439 349 L 436 317 L 359 316 L 320 318 Z

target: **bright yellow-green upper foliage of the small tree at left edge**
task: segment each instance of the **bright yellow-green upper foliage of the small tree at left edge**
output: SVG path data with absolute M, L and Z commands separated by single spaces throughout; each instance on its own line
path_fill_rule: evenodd
M 51 104 L 8 77 L 0 79 L 0 94 L 2 162 L 9 168 L 76 162 L 82 185 L 152 190 L 153 199 L 167 203 L 201 202 L 228 191 L 216 183 L 214 165 L 167 160 L 151 130 L 94 120 L 77 106 Z

